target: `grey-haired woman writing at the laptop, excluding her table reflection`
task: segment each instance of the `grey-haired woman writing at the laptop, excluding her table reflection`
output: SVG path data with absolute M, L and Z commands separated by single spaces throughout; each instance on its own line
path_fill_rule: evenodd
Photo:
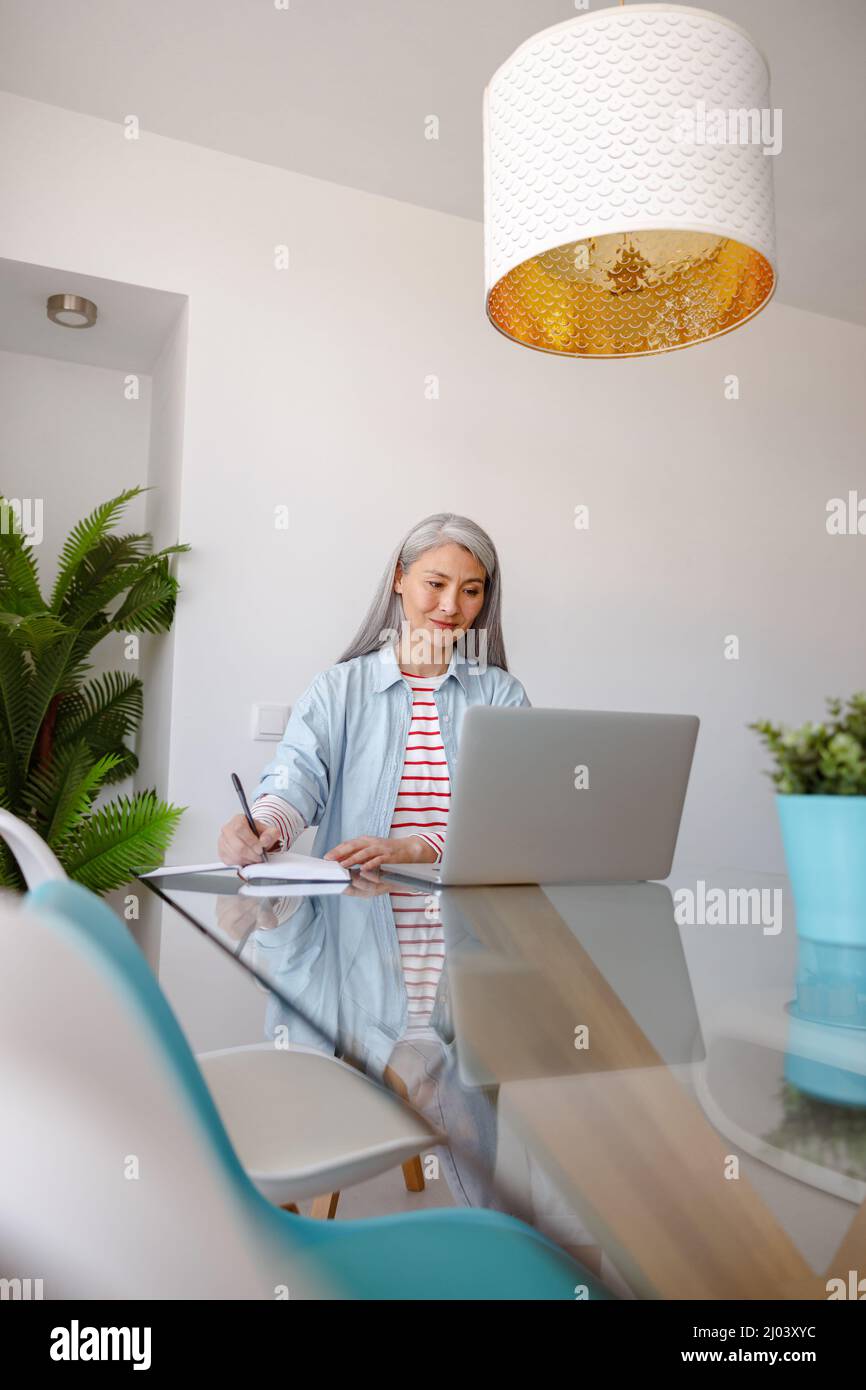
M 509 674 L 499 559 L 467 517 L 438 513 L 393 552 L 360 631 L 295 705 L 224 863 L 256 863 L 317 826 L 313 853 L 364 872 L 436 863 L 471 705 L 528 705 Z M 475 656 L 473 660 L 471 657 Z

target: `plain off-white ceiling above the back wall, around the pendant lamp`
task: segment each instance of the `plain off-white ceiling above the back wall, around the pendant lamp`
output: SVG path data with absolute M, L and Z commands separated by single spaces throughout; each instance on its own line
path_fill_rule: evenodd
M 277 3 L 0 0 L 0 88 L 480 221 L 484 86 L 575 14 L 574 0 Z M 708 7 L 756 39 L 783 110 L 778 297 L 866 324 L 866 0 Z

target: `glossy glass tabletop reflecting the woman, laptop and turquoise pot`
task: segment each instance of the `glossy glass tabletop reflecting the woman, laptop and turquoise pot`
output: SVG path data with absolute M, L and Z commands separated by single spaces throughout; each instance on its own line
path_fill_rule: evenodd
M 455 1201 L 599 1247 L 620 1295 L 827 1298 L 863 1268 L 866 949 L 799 941 L 784 877 L 140 883 L 163 937 L 257 981 L 260 1037 L 396 1084 Z

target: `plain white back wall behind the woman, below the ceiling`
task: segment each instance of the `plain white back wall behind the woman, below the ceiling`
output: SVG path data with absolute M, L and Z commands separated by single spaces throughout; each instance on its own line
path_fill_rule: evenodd
M 160 788 L 190 806 L 175 860 L 215 853 L 229 770 L 252 787 L 271 756 L 252 702 L 296 699 L 399 534 L 453 509 L 499 546 L 509 660 L 535 705 L 702 716 L 680 862 L 781 865 L 744 726 L 866 684 L 866 539 L 824 530 L 827 499 L 862 485 L 866 329 L 777 302 L 692 350 L 557 360 L 487 324 L 473 221 L 8 93 L 0 132 L 0 256 L 190 299 L 193 549 Z

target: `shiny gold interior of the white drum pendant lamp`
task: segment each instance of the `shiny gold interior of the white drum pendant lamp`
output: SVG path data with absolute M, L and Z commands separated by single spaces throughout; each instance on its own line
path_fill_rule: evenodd
M 652 231 L 567 242 L 488 295 L 514 342 L 571 357 L 670 352 L 737 328 L 773 293 L 773 267 L 730 236 Z

